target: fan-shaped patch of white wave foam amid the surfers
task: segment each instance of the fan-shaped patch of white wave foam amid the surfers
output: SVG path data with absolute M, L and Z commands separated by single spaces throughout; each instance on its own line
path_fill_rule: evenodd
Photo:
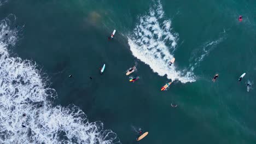
M 131 37 L 128 37 L 132 55 L 148 64 L 160 76 L 167 75 L 168 79 L 182 83 L 193 82 L 193 73 L 177 70 L 175 63 L 168 67 L 168 62 L 173 58 L 169 50 L 175 50 L 178 33 L 171 32 L 171 20 L 164 17 L 164 10 L 159 1 L 148 14 L 139 17 Z

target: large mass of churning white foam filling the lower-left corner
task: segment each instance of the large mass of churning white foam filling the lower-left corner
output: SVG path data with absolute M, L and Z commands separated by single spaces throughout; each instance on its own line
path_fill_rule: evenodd
M 102 122 L 88 122 L 79 107 L 53 106 L 56 92 L 37 65 L 10 56 L 18 31 L 9 24 L 9 18 L 0 22 L 0 143 L 120 143 Z

